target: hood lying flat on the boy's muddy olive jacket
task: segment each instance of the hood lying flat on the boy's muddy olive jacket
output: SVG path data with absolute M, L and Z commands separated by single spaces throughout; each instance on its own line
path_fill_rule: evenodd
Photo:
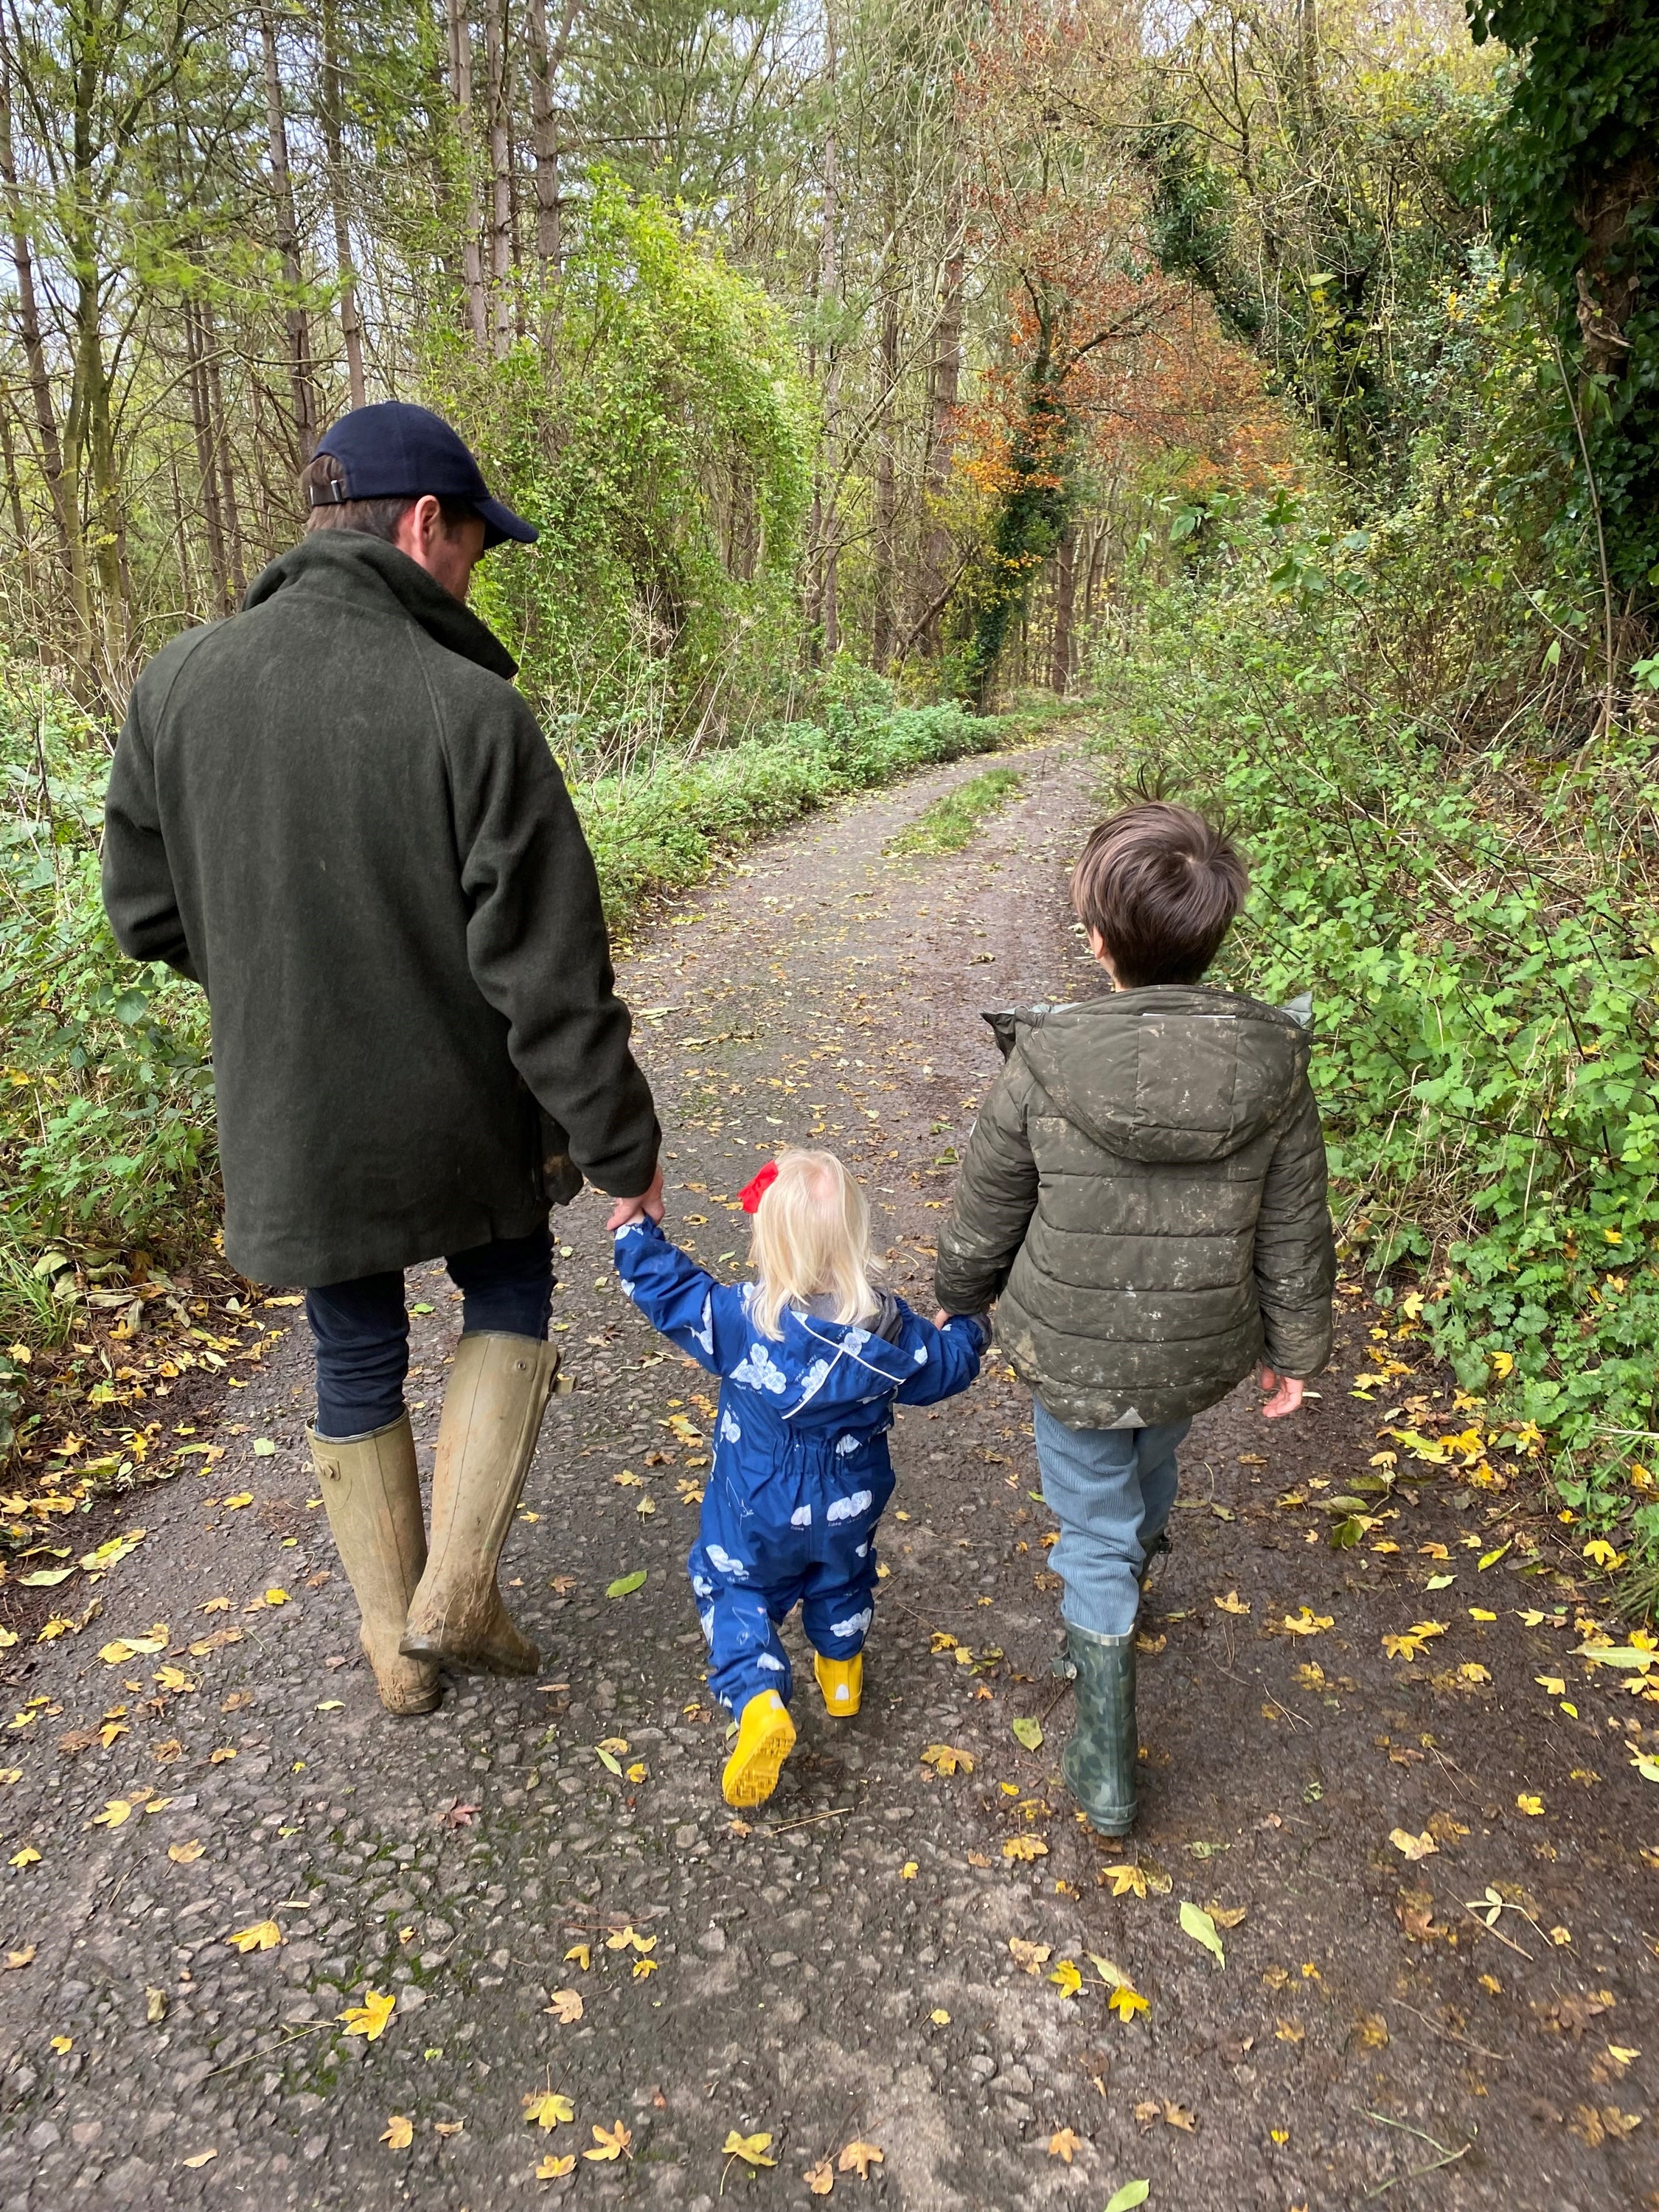
M 1124 1159 L 1225 1159 L 1279 1119 L 1307 1071 L 1296 1011 L 1201 984 L 987 1020 L 1055 1110 Z

